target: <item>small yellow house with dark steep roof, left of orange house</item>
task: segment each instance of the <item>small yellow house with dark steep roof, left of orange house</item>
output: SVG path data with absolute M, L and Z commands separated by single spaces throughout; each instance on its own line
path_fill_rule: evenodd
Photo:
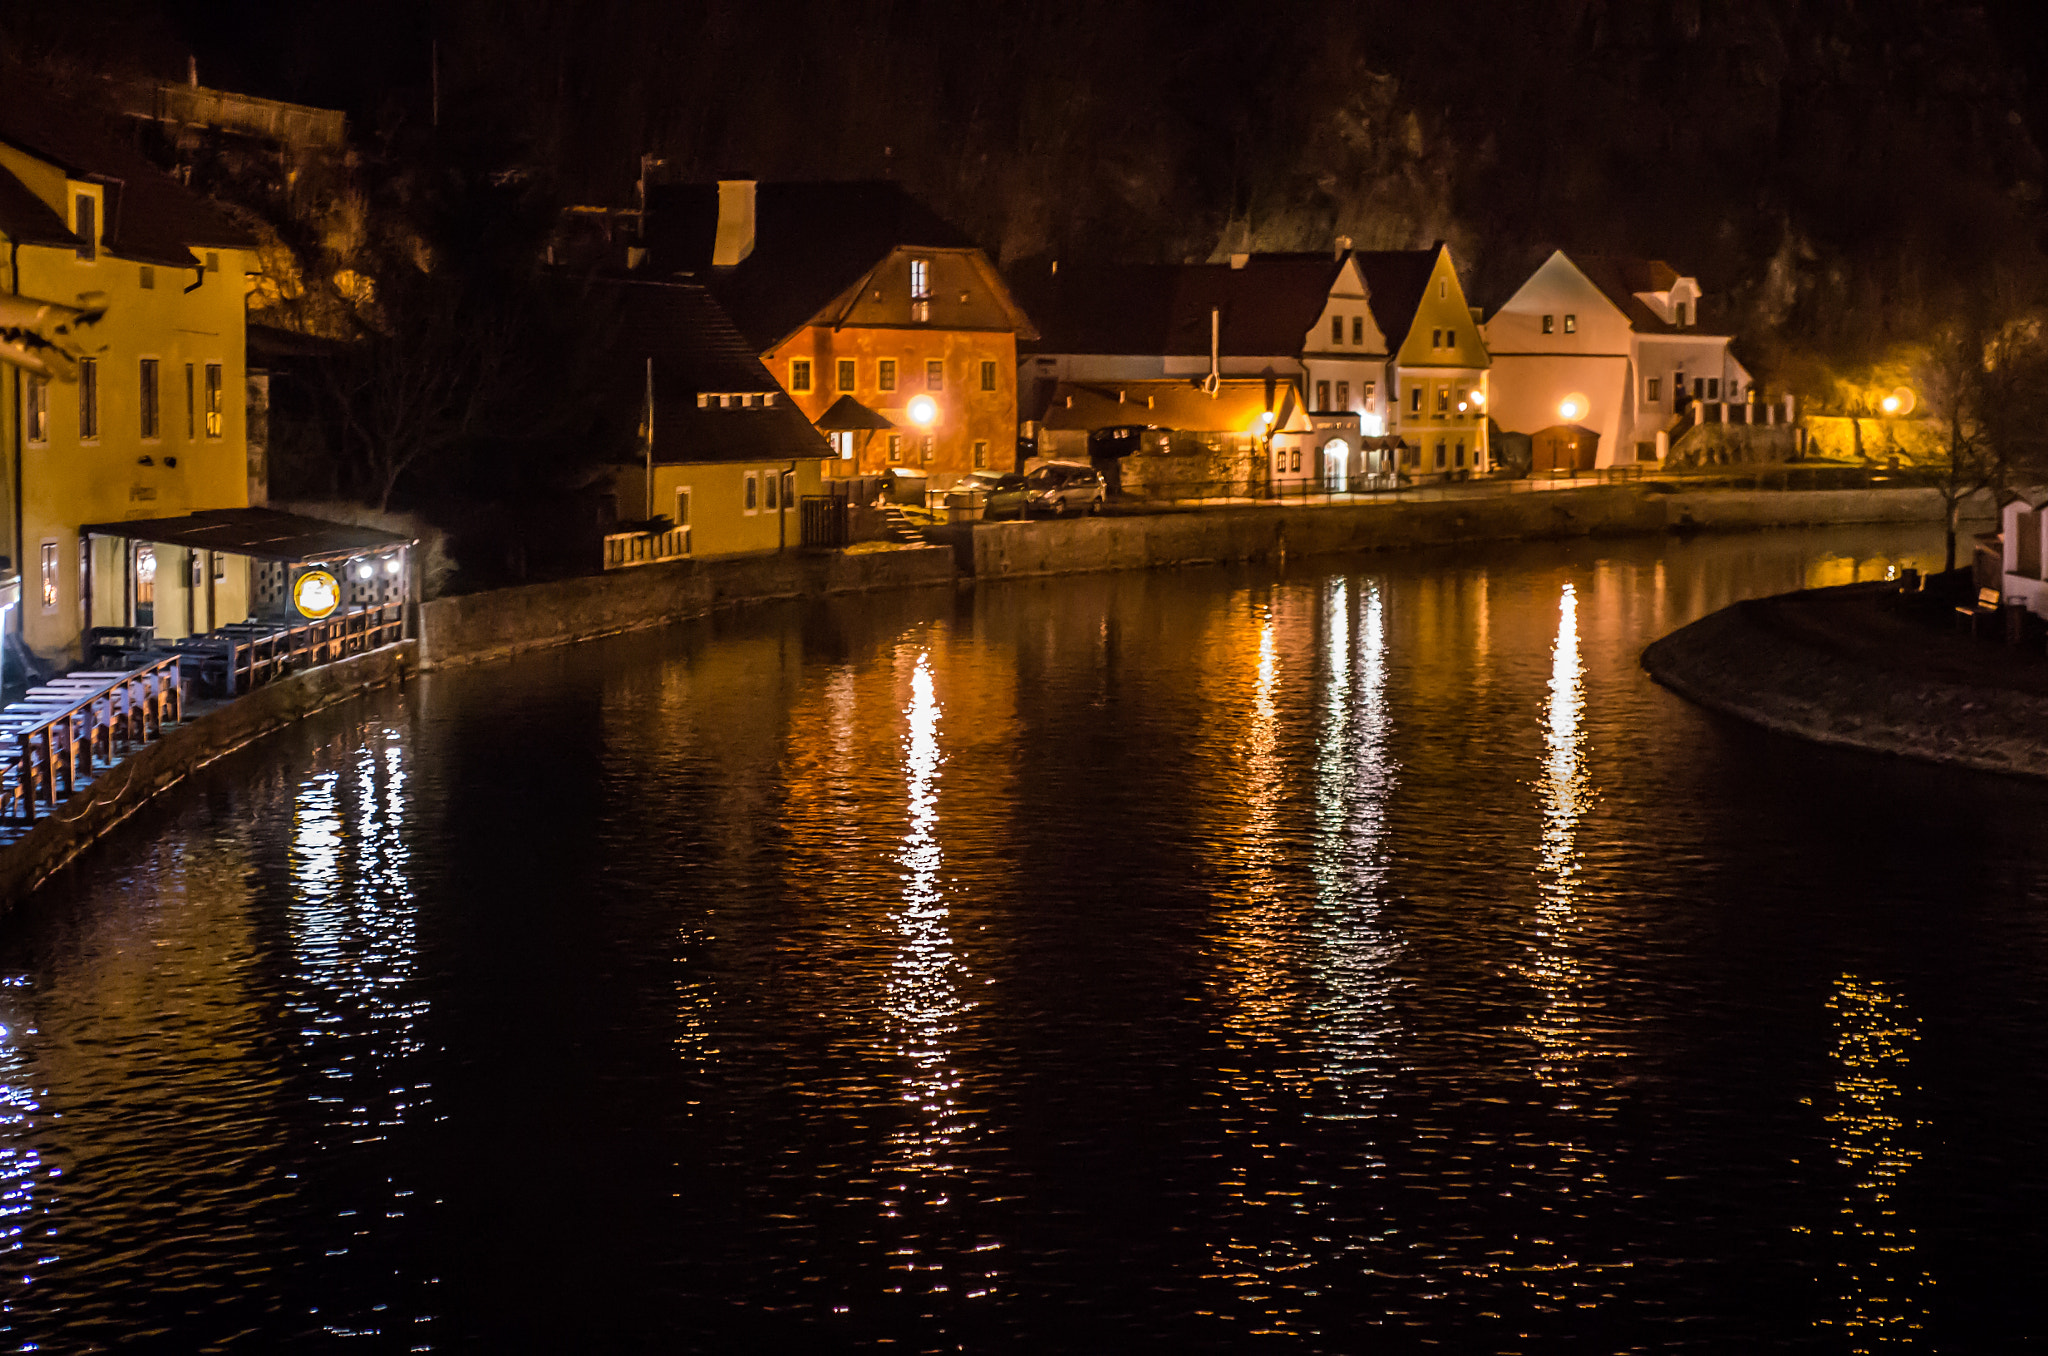
M 684 281 L 606 279 L 621 399 L 639 399 L 651 457 L 621 465 L 618 518 L 668 518 L 645 545 L 618 535 L 606 565 L 745 555 L 803 545 L 799 504 L 821 492 L 831 447 L 776 385 L 711 293 Z M 633 545 L 641 553 L 627 559 Z M 614 559 L 618 555 L 618 559 Z

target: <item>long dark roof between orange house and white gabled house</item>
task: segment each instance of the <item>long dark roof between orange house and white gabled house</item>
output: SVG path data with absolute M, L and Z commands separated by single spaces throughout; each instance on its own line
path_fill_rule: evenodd
M 1329 254 L 1253 254 L 1243 268 L 1081 264 L 1018 291 L 1038 352 L 1206 354 L 1217 309 L 1225 356 L 1274 356 L 1300 352 L 1337 268 Z

